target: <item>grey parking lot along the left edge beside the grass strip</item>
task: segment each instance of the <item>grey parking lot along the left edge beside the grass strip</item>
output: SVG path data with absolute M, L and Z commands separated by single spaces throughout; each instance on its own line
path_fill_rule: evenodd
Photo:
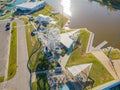
M 6 24 L 9 21 L 0 20 L 0 76 L 4 76 L 6 62 L 9 60 L 9 39 L 10 39 L 10 30 L 6 31 Z

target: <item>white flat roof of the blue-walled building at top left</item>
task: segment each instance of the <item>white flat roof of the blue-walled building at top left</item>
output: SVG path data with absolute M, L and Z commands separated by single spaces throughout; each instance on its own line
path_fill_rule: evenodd
M 26 2 L 26 3 L 22 3 L 17 5 L 18 8 L 27 8 L 27 9 L 33 9 L 36 6 L 40 5 L 44 3 L 44 1 L 37 1 L 37 2 Z

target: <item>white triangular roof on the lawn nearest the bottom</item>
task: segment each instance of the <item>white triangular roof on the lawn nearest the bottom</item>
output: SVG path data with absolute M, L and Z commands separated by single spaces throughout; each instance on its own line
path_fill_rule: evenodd
M 72 73 L 73 76 L 76 76 L 77 74 L 84 71 L 88 67 L 91 69 L 91 66 L 92 66 L 92 63 L 76 65 L 76 66 L 69 67 L 68 71 Z

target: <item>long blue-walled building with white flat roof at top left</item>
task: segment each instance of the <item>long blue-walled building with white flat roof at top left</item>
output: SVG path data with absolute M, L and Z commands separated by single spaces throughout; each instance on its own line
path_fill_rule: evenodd
M 39 9 L 45 7 L 45 1 L 26 2 L 16 6 L 19 14 L 31 14 Z

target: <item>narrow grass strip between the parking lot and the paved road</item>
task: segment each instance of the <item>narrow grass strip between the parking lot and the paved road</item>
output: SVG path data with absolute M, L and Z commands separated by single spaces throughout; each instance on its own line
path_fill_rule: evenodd
M 17 71 L 17 23 L 12 23 L 8 79 L 14 77 Z

